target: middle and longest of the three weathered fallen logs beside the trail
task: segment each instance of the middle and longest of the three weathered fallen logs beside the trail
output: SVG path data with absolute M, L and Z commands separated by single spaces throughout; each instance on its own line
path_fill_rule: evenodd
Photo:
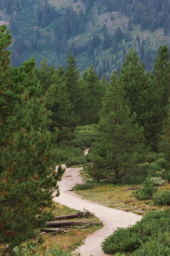
M 88 221 L 50 221 L 46 222 L 47 227 L 62 227 L 62 226 L 75 226 L 82 224 L 100 225 L 101 222 L 88 222 Z

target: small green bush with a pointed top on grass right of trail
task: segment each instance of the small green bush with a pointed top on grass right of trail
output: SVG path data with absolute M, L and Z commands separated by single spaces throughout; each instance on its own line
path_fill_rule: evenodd
M 143 188 L 135 190 L 132 192 L 132 195 L 138 200 L 148 200 L 152 199 L 156 191 L 157 188 L 155 188 L 154 179 L 148 176 L 144 181 Z

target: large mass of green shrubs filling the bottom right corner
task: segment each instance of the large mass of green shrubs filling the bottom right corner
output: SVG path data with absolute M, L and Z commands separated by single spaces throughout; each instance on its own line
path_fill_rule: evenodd
M 128 228 L 118 228 L 114 231 L 114 233 L 108 236 L 101 244 L 102 250 L 108 254 L 117 252 L 132 253 L 135 251 L 132 254 L 134 256 L 158 255 L 147 254 L 147 250 L 149 250 L 148 253 L 151 253 L 151 249 L 149 249 L 151 245 L 149 245 L 149 243 L 152 243 L 154 240 L 161 243 L 161 240 L 163 240 L 164 248 L 169 246 L 168 241 L 170 238 L 169 232 L 167 231 L 169 230 L 169 225 L 170 212 L 168 209 L 164 211 L 150 211 L 146 213 L 140 221 L 137 221 L 135 225 Z M 153 253 L 155 253 L 155 250 L 156 248 L 153 250 Z M 160 251 L 161 250 L 162 249 L 160 249 Z

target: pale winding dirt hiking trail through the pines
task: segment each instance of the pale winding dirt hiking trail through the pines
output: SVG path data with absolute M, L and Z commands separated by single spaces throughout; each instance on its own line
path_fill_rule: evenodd
M 85 154 L 87 153 L 88 150 L 85 150 Z M 84 245 L 80 246 L 76 251 L 80 252 L 81 256 L 90 256 L 91 254 L 93 256 L 104 256 L 106 254 L 100 247 L 104 238 L 112 234 L 113 229 L 116 229 L 117 227 L 125 228 L 130 224 L 135 224 L 135 222 L 140 220 L 142 216 L 136 215 L 135 213 L 108 208 L 90 200 L 82 199 L 82 197 L 78 196 L 74 192 L 68 191 L 76 183 L 83 183 L 79 175 L 79 171 L 81 169 L 82 167 L 66 168 L 66 172 L 64 173 L 62 180 L 58 183 L 60 187 L 60 196 L 55 197 L 53 200 L 76 210 L 82 211 L 83 208 L 85 208 L 90 212 L 96 213 L 95 216 L 103 222 L 104 227 L 89 235 L 85 239 Z

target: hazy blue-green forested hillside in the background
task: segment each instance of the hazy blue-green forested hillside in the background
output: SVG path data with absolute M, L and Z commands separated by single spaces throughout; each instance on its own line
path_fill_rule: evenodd
M 11 64 L 34 56 L 37 66 L 45 57 L 64 67 L 71 51 L 81 75 L 93 64 L 110 81 L 130 47 L 152 70 L 160 44 L 169 45 L 169 6 L 169 0 L 2 0 L 0 22 L 13 35 Z

